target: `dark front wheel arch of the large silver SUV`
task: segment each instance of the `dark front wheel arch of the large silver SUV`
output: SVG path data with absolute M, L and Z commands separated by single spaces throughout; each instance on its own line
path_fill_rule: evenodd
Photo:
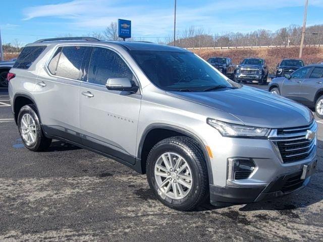
M 138 153 L 137 153 L 138 158 L 140 158 L 142 173 L 146 172 L 146 159 L 151 148 L 160 140 L 173 137 L 173 136 L 189 137 L 199 145 L 199 147 L 203 152 L 203 156 L 206 162 L 209 183 L 212 184 L 213 176 L 212 176 L 211 162 L 203 141 L 191 131 L 188 131 L 181 127 L 167 125 L 167 124 L 152 124 L 152 125 L 149 125 L 143 132 L 143 135 L 139 142 Z

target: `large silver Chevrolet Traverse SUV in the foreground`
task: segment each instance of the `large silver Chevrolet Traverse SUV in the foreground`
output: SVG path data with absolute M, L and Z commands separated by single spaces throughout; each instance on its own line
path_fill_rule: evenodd
M 111 157 L 146 173 L 174 209 L 289 194 L 316 167 L 308 108 L 228 80 L 182 48 L 44 39 L 23 49 L 8 79 L 26 148 L 58 139 Z

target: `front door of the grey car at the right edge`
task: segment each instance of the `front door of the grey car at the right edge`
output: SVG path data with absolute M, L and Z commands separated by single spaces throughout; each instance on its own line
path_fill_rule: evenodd
M 291 74 L 291 79 L 285 78 L 281 95 L 295 101 L 300 100 L 300 90 L 303 79 L 305 79 L 312 67 L 304 67 Z

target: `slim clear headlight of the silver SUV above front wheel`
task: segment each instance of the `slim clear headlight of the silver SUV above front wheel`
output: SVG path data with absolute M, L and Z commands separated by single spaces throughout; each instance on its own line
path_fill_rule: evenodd
M 235 125 L 213 118 L 207 118 L 206 123 L 216 128 L 222 136 L 229 137 L 267 137 L 270 132 L 270 129 L 267 128 Z

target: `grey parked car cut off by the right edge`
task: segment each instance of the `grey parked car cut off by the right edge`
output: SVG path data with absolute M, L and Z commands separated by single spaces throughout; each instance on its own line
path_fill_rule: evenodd
M 314 107 L 318 117 L 323 118 L 323 66 L 309 65 L 285 77 L 274 78 L 268 90 L 290 98 L 308 107 Z

